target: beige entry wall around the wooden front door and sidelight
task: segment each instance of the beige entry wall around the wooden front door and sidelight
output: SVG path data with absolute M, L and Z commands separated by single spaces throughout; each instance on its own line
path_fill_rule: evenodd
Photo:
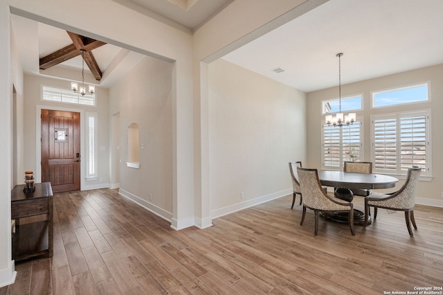
M 39 149 L 40 120 L 38 114 L 40 109 L 60 109 L 67 111 L 80 112 L 80 131 L 81 146 L 80 151 L 82 160 L 82 178 L 81 189 L 88 190 L 93 188 L 109 187 L 109 103 L 108 91 L 100 87 L 96 87 L 96 106 L 74 105 L 61 102 L 48 102 L 41 100 L 42 85 L 49 87 L 57 87 L 70 89 L 71 83 L 66 80 L 57 80 L 37 75 L 25 75 L 25 107 L 24 107 L 24 141 L 26 143 L 26 152 L 24 154 L 24 163 L 26 170 L 33 170 L 36 181 L 42 179 L 42 167 L 39 165 L 41 160 L 41 150 Z M 98 180 L 86 181 L 86 122 L 85 112 L 97 113 L 97 157 L 98 157 Z

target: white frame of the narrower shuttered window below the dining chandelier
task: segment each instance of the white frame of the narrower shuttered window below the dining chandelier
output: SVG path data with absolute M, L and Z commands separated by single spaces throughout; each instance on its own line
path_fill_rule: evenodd
M 364 161 L 364 124 L 363 124 L 363 116 L 357 116 L 356 117 L 356 121 L 350 125 L 355 126 L 356 124 L 359 124 L 359 155 L 360 155 L 360 159 L 359 161 Z M 345 151 L 343 150 L 344 146 L 343 146 L 343 129 L 347 128 L 347 125 L 343 125 L 342 127 L 334 127 L 333 125 L 327 126 L 325 120 L 321 121 L 321 166 L 322 169 L 327 169 L 327 170 L 343 170 L 343 161 L 350 161 L 350 159 L 344 159 L 343 154 L 345 153 Z M 325 165 L 325 127 L 330 127 L 330 128 L 339 128 L 340 129 L 340 143 L 339 143 L 339 165 L 338 166 L 327 166 Z

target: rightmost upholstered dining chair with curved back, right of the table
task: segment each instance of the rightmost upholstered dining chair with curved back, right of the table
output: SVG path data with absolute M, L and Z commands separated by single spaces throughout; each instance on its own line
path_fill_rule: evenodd
M 370 207 L 374 207 L 374 220 L 377 218 L 377 208 L 390 209 L 395 211 L 404 211 L 406 226 L 411 237 L 414 236 L 410 223 L 412 222 L 414 229 L 417 229 L 414 219 L 415 206 L 415 187 L 422 172 L 422 168 L 413 167 L 408 169 L 408 178 L 404 185 L 395 193 L 385 195 L 372 193 L 365 197 L 365 222 L 364 227 L 368 224 L 368 212 Z

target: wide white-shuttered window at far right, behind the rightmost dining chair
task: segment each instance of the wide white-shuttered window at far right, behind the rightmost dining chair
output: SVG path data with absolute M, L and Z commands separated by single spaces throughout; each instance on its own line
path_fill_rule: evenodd
M 372 170 L 406 175 L 418 166 L 430 176 L 429 117 L 430 111 L 372 116 Z

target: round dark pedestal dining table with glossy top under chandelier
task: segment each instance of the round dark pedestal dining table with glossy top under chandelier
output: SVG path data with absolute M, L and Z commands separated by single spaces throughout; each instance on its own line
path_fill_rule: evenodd
M 338 199 L 343 199 L 347 202 L 352 202 L 354 194 L 353 188 L 366 189 L 382 189 L 393 188 L 399 179 L 396 177 L 381 175 L 376 173 L 354 173 L 335 170 L 319 170 L 318 179 L 323 186 L 332 186 L 336 188 L 334 195 Z M 329 220 L 341 224 L 348 223 L 347 213 L 334 213 L 327 215 Z M 365 220 L 365 213 L 354 209 L 354 225 L 363 225 Z M 368 217 L 368 224 L 371 220 Z

